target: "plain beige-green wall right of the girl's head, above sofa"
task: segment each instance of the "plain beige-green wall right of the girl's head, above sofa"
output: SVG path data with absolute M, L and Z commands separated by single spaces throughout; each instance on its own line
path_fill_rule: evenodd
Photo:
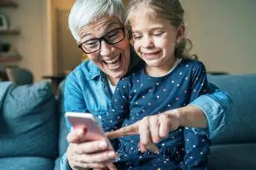
M 194 52 L 210 71 L 256 73 L 255 0 L 181 0 Z

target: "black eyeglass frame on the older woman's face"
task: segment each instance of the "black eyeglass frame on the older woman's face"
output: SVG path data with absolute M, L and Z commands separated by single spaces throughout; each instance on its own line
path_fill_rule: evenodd
M 125 31 L 125 28 L 124 28 L 124 27 L 114 28 L 114 29 L 111 30 L 111 31 L 117 31 L 118 29 L 120 29 L 120 30 L 123 31 L 123 39 L 117 41 L 117 43 L 120 43 L 122 40 L 125 39 L 125 32 L 124 32 L 124 31 Z M 110 42 L 108 42 L 108 40 L 106 40 L 106 38 L 105 38 L 105 36 L 107 36 L 109 33 L 111 33 L 111 31 L 108 31 L 108 32 L 107 32 L 104 36 L 102 36 L 102 37 L 93 38 L 93 39 L 90 39 L 90 40 L 99 40 L 99 49 L 101 49 L 101 47 L 102 47 L 102 40 L 104 40 L 105 43 L 108 43 L 109 45 L 117 44 L 117 43 L 110 43 Z M 84 49 L 83 49 L 83 44 L 84 44 L 84 43 L 87 43 L 87 42 L 90 41 L 90 40 L 86 40 L 86 41 L 84 41 L 83 43 L 78 44 L 78 48 L 81 49 L 85 54 L 92 54 L 92 53 L 93 53 L 93 52 L 85 52 Z M 94 51 L 94 52 L 98 52 L 99 49 L 97 49 L 97 50 Z

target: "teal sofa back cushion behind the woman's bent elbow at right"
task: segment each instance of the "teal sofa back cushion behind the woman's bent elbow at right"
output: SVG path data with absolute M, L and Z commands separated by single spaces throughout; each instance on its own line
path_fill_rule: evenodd
M 209 82 L 230 94 L 235 106 L 234 112 L 227 112 L 227 124 L 213 140 L 213 144 L 255 143 L 256 74 L 208 76 L 208 78 Z

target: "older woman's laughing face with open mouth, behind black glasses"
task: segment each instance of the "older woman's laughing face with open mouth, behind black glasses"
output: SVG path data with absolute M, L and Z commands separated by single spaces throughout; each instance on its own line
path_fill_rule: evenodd
M 81 48 L 87 52 L 90 48 L 99 46 L 99 50 L 96 52 L 87 54 L 88 58 L 99 67 L 102 72 L 113 78 L 120 78 L 124 76 L 128 70 L 130 64 L 130 43 L 126 38 L 126 33 L 122 29 L 122 25 L 118 22 L 118 19 L 111 16 L 104 16 L 98 19 L 96 22 L 90 23 L 89 25 L 81 28 L 79 31 L 80 43 L 84 43 Z M 118 30 L 118 31 L 116 31 Z M 123 40 L 117 40 L 118 43 L 109 44 L 114 38 L 123 36 Z M 95 38 L 103 39 L 96 44 Z M 106 42 L 108 39 L 109 42 Z M 99 44 L 100 43 L 100 44 Z M 97 49 L 97 47 L 96 47 Z

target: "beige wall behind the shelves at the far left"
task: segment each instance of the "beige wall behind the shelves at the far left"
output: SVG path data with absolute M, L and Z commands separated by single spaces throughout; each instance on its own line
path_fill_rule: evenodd
M 16 46 L 23 59 L 20 67 L 32 70 L 35 80 L 44 74 L 45 58 L 45 0 L 15 0 L 19 7 L 1 9 L 11 23 L 20 28 L 18 36 L 5 36 L 2 39 Z

